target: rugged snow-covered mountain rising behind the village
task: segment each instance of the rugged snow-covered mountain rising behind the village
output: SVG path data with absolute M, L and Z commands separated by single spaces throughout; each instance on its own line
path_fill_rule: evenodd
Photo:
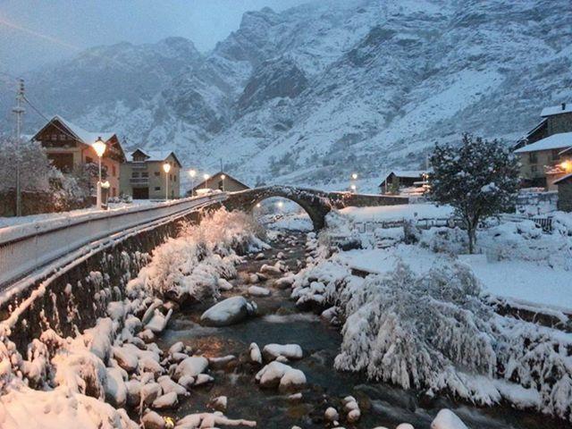
M 47 113 L 130 147 L 222 158 L 245 181 L 416 168 L 436 141 L 508 142 L 572 99 L 568 0 L 355 0 L 245 13 L 206 55 L 168 38 L 89 49 L 26 76 Z M 31 120 L 31 116 L 29 117 Z

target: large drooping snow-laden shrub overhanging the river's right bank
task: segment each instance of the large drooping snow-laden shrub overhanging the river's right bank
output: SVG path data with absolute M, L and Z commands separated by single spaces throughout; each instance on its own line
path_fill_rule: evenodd
M 460 265 L 418 277 L 399 264 L 387 275 L 368 276 L 341 303 L 347 320 L 335 366 L 470 398 L 472 386 L 460 373 L 491 375 L 496 364 L 492 310 L 480 291 Z

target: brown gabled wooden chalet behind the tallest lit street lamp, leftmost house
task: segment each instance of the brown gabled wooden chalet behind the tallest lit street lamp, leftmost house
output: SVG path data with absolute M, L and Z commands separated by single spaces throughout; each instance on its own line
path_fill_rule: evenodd
M 125 154 L 114 132 L 87 131 L 56 115 L 32 137 L 44 147 L 52 164 L 64 173 L 73 172 L 88 164 L 97 165 L 98 158 L 92 145 L 99 138 L 106 146 L 101 164 L 105 181 L 109 181 L 109 196 L 117 197 L 120 192 L 121 164 L 125 162 Z

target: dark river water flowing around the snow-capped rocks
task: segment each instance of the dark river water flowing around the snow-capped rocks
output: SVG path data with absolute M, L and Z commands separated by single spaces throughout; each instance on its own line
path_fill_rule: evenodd
M 296 260 L 305 258 L 304 236 L 301 233 L 296 235 L 299 243 L 296 247 L 276 240 L 273 248 L 265 252 L 267 259 L 248 260 L 239 266 L 240 273 L 256 273 L 260 265 L 273 264 L 279 251 L 285 253 L 285 262 L 295 270 Z M 341 399 L 352 395 L 359 403 L 362 417 L 356 425 L 343 424 L 346 428 L 394 428 L 403 422 L 416 428 L 429 428 L 442 408 L 452 409 L 473 429 L 566 427 L 563 422 L 534 413 L 508 407 L 476 408 L 443 397 L 430 399 L 420 392 L 368 382 L 361 374 L 338 372 L 333 368 L 333 359 L 341 344 L 339 329 L 317 315 L 300 312 L 289 299 L 290 291 L 273 288 L 272 282 L 271 279 L 259 284 L 272 290 L 272 295 L 253 298 L 259 314 L 241 324 L 222 328 L 201 326 L 198 319 L 212 302 L 181 311 L 173 317 L 159 341 L 162 349 L 183 341 L 206 357 L 232 354 L 240 358 L 237 365 L 214 371 L 214 383 L 194 389 L 189 399 L 181 400 L 172 416 L 203 412 L 211 399 L 224 395 L 228 397 L 226 416 L 256 420 L 260 428 L 290 429 L 292 425 L 324 428 L 325 408 L 333 406 L 341 412 Z M 240 281 L 234 284 L 234 289 L 224 292 L 223 298 L 238 294 L 248 298 L 248 285 Z M 260 349 L 268 343 L 297 343 L 302 347 L 304 357 L 289 364 L 306 374 L 307 386 L 302 390 L 301 400 L 289 399 L 288 394 L 278 391 L 261 389 L 255 383 L 259 368 L 248 363 L 247 359 L 251 342 L 257 342 Z

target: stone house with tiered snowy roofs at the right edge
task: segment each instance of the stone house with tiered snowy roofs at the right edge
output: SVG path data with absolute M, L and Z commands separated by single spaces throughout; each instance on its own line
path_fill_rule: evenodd
M 546 107 L 543 120 L 515 146 L 523 187 L 556 189 L 555 181 L 572 172 L 572 105 Z M 568 171 L 570 170 L 570 171 Z

